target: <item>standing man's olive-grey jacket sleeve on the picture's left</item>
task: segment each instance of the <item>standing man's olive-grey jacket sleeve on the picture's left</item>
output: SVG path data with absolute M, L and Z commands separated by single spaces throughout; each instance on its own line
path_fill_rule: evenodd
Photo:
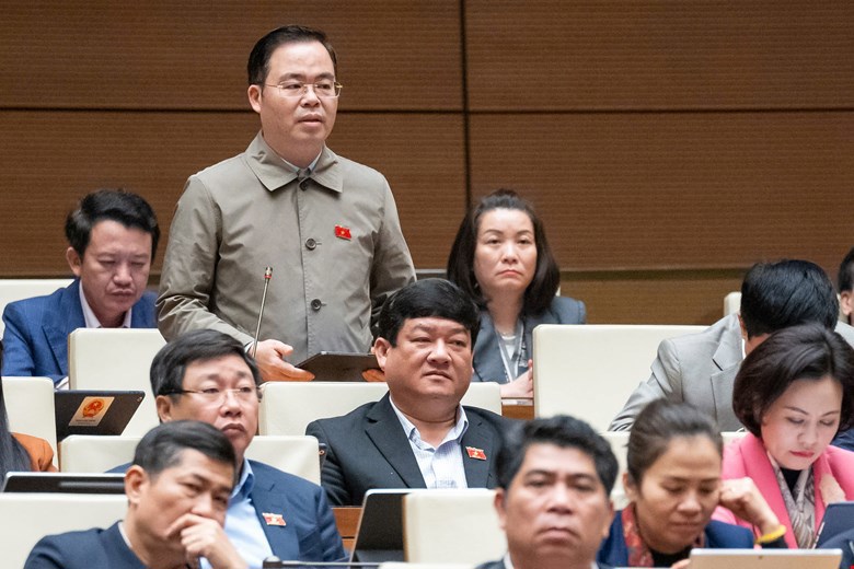
M 252 341 L 209 309 L 221 233 L 222 219 L 208 188 L 191 176 L 172 220 L 157 300 L 158 327 L 166 340 L 211 328 L 244 345 Z

